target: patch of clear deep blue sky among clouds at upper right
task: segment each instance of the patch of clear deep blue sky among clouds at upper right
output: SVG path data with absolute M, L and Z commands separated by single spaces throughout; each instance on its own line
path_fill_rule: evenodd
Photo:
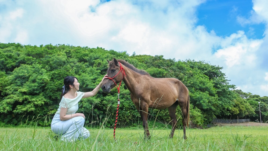
M 241 25 L 237 16 L 249 18 L 253 3 L 250 0 L 208 0 L 197 7 L 197 25 L 208 31 L 214 30 L 219 36 L 229 36 L 243 30 L 248 38 L 262 39 L 265 24 Z

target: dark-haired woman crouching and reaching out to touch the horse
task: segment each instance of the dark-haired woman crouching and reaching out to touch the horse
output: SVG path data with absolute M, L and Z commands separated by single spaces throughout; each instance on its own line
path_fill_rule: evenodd
M 61 140 L 75 141 L 89 137 L 89 131 L 84 128 L 84 114 L 76 113 L 78 110 L 78 102 L 82 98 L 95 96 L 107 76 L 108 75 L 105 75 L 100 84 L 91 92 L 78 92 L 80 85 L 78 79 L 73 76 L 65 77 L 61 93 L 61 102 L 51 122 L 51 130 L 58 136 L 61 136 Z

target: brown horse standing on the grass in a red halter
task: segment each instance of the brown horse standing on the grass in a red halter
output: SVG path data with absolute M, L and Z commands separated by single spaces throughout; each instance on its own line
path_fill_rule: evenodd
M 186 139 L 186 125 L 188 126 L 190 119 L 190 97 L 188 89 L 180 80 L 175 78 L 153 78 L 146 71 L 139 70 L 124 60 L 114 58 L 113 61 L 107 61 L 109 63 L 107 70 L 109 78 L 104 79 L 101 89 L 103 92 L 109 93 L 114 86 L 117 86 L 118 82 L 124 81 L 127 89 L 131 92 L 131 100 L 141 115 L 144 138 L 150 139 L 147 123 L 148 108 L 168 108 L 172 123 L 169 136 L 173 138 L 177 124 L 176 109 L 177 106 L 180 106 L 183 115 L 183 137 Z

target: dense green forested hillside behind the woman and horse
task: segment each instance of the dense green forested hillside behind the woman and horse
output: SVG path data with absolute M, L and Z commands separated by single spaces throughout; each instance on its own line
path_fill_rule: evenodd
M 49 126 L 61 95 L 65 76 L 75 76 L 81 92 L 93 90 L 107 71 L 107 61 L 124 59 L 156 78 L 177 78 L 190 92 L 191 126 L 207 125 L 215 118 L 268 120 L 268 97 L 234 90 L 218 65 L 205 61 L 164 59 L 163 55 L 129 55 L 103 48 L 72 45 L 21 45 L 0 43 L 0 125 L 19 125 L 33 119 L 41 126 Z M 239 75 L 237 75 L 239 76 Z M 120 108 L 117 127 L 135 126 L 140 120 L 124 86 L 120 89 Z M 260 110 L 259 103 L 260 102 Z M 78 112 L 93 126 L 108 118 L 106 126 L 113 126 L 117 108 L 117 89 L 82 99 Z M 181 125 L 180 109 L 177 126 Z M 149 110 L 154 121 L 158 110 Z M 161 110 L 157 121 L 169 123 L 167 109 Z M 141 121 L 140 121 L 141 122 Z

